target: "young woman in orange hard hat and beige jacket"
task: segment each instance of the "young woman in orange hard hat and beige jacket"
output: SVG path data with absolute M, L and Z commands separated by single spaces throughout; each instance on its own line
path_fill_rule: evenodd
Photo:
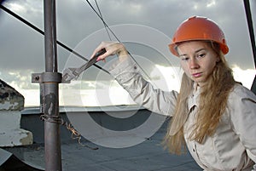
M 131 98 L 148 110 L 172 117 L 164 140 L 180 154 L 185 147 L 204 170 L 252 170 L 256 162 L 256 96 L 236 83 L 224 54 L 223 31 L 212 20 L 191 17 L 177 28 L 169 48 L 180 59 L 179 93 L 154 89 L 139 74 L 122 43 L 103 42 L 104 60 L 117 54 L 110 69 Z

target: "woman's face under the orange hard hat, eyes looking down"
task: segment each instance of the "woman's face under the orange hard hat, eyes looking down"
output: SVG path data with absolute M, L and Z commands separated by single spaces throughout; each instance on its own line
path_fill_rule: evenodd
M 219 61 L 210 43 L 203 41 L 189 41 L 177 46 L 183 71 L 199 86 L 207 83 L 214 66 Z

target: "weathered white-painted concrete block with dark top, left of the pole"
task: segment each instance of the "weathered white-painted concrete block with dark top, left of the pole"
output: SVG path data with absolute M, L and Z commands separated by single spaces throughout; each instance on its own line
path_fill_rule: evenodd
M 31 145 L 32 132 L 20 128 L 24 97 L 0 79 L 0 146 Z M 1 170 L 1 169 L 0 169 Z

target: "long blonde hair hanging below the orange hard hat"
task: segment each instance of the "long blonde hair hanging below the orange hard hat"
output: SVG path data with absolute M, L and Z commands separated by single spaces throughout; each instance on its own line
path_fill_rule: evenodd
M 201 87 L 196 122 L 192 127 L 192 133 L 189 134 L 189 140 L 196 140 L 199 143 L 203 143 L 207 136 L 215 133 L 220 118 L 226 110 L 230 90 L 236 83 L 218 43 L 211 43 L 211 47 L 220 60 L 206 85 Z M 183 124 L 185 123 L 184 116 L 189 112 L 188 97 L 192 93 L 193 84 L 193 81 L 184 73 L 177 97 L 177 106 L 163 141 L 172 153 L 181 154 L 185 149 Z

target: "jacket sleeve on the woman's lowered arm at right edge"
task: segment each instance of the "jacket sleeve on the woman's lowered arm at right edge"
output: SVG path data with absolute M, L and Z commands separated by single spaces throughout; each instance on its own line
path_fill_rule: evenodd
M 256 96 L 241 85 L 231 95 L 231 122 L 248 157 L 256 162 Z

